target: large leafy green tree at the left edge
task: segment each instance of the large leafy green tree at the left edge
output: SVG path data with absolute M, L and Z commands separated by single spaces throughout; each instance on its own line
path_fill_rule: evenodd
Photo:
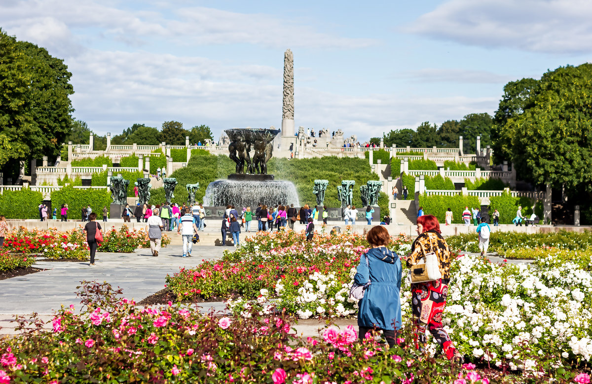
M 72 73 L 46 49 L 1 29 L 0 57 L 0 133 L 19 149 L 9 156 L 56 157 L 72 126 Z

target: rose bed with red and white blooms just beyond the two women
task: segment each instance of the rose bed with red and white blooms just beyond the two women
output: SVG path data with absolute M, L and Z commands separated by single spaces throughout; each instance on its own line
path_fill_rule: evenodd
M 408 238 L 394 240 L 392 249 L 408 249 Z M 258 234 L 223 261 L 182 269 L 167 284 L 180 298 L 242 295 L 228 304 L 245 316 L 271 314 L 274 306 L 300 318 L 355 315 L 348 290 L 364 251 L 355 235 L 316 235 L 307 243 L 301 233 Z M 457 256 L 451 276 L 445 325 L 465 356 L 514 368 L 548 351 L 590 360 L 592 276 L 581 264 L 558 256 L 532 265 Z M 410 319 L 406 282 L 401 292 L 403 318 Z

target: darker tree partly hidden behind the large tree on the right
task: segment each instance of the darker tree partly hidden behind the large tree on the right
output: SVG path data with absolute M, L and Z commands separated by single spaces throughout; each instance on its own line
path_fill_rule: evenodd
M 511 81 L 504 86 L 504 96 L 494 115 L 490 135 L 495 163 L 501 164 L 504 160 L 511 160 L 510 148 L 504 145 L 509 143 L 507 138 L 503 138 L 504 129 L 510 118 L 518 117 L 532 107 L 532 96 L 537 88 L 538 80 L 531 78 Z

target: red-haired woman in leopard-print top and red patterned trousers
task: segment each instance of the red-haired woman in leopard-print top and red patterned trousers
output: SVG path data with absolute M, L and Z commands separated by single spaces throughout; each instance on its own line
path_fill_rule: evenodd
M 433 252 L 437 256 L 442 278 L 411 284 L 414 334 L 416 347 L 420 348 L 420 344 L 427 342 L 427 328 L 437 343 L 442 346 L 446 357 L 452 360 L 455 357 L 462 357 L 457 356 L 451 338 L 442 327 L 442 312 L 446 305 L 450 282 L 450 250 L 440 233 L 440 223 L 435 216 L 424 215 L 417 218 L 418 236 L 411 246 L 407 267 L 420 263 L 420 259 L 427 253 Z

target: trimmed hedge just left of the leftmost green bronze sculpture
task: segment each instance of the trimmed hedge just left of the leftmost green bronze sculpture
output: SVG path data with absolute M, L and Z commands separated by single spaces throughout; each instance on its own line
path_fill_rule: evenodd
M 92 211 L 97 217 L 102 217 L 103 207 L 109 209 L 111 192 L 104 189 L 78 189 L 73 186 L 65 186 L 59 191 L 52 192 L 52 206 L 59 208 L 62 204 L 68 205 L 68 219 L 81 219 L 82 206 L 91 205 Z M 58 209 L 59 213 L 59 209 Z

